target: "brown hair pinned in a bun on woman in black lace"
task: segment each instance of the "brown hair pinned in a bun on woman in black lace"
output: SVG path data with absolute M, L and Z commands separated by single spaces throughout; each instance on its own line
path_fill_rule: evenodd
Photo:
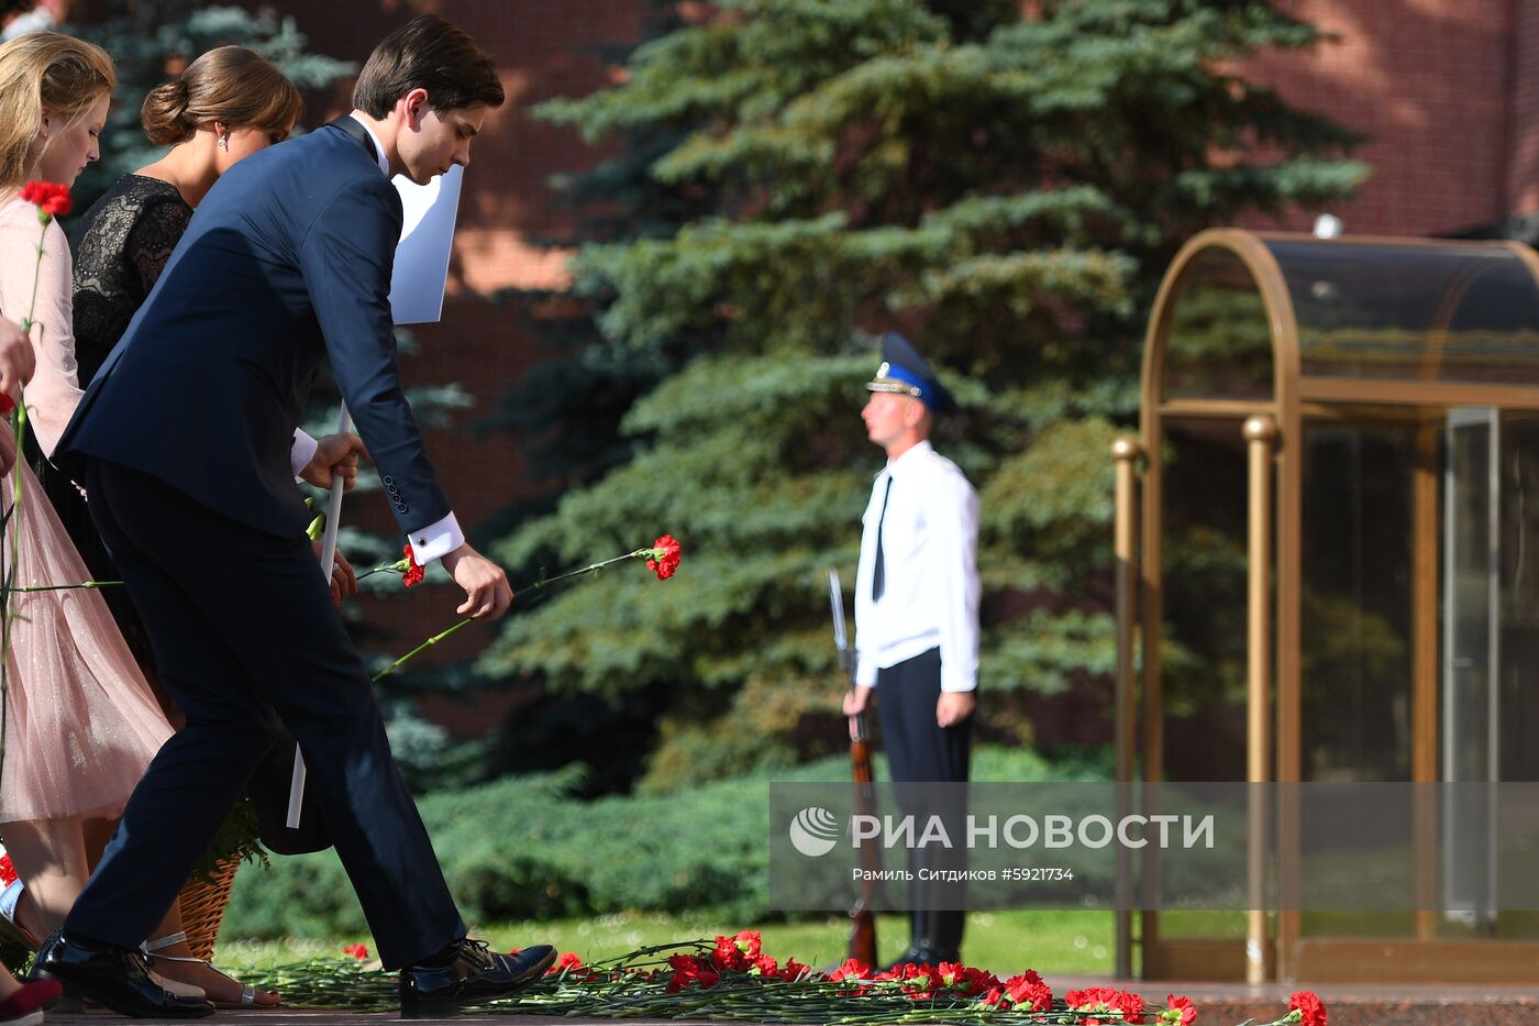
M 171 146 L 214 122 L 288 131 L 303 112 L 299 89 L 260 54 L 245 46 L 219 46 L 151 89 L 140 120 L 149 142 Z

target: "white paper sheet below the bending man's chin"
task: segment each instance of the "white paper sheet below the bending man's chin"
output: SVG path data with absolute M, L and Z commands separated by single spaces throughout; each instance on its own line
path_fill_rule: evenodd
M 392 179 L 405 214 L 396 246 L 396 273 L 389 280 L 396 324 L 429 324 L 443 316 L 443 285 L 449 277 L 463 177 L 465 168 L 454 165 L 448 174 L 426 185 L 399 174 Z

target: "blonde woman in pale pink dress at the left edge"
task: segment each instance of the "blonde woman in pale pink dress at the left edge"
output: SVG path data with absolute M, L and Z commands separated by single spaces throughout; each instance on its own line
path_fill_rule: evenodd
M 37 370 L 28 419 L 52 451 L 80 399 L 71 317 L 71 259 L 58 222 L 40 230 L 20 197 L 29 179 L 72 185 L 100 156 L 115 74 L 98 46 L 32 32 L 0 46 L 0 314 L 35 320 Z M 38 240 L 42 239 L 42 256 Z M 25 462 L 17 541 L 20 584 L 82 581 L 86 567 Z M 9 502 L 11 476 L 3 484 Z M 15 522 L 15 521 L 12 521 Z M 9 545 L 9 539 L 6 539 Z M 0 838 L 25 890 L 9 892 L 0 929 L 25 941 L 58 929 L 102 844 L 171 727 L 98 592 L 17 596 L 12 625 Z M 9 914 L 9 915 L 6 915 Z M 182 929 L 175 909 L 159 935 Z M 182 954 L 186 954 L 185 951 Z M 208 981 L 222 1000 L 257 995 L 203 963 L 160 963 L 174 978 Z M 209 1011 L 200 986 L 171 995 L 145 977 L 168 1015 Z M 271 1003 L 275 998 L 269 998 Z

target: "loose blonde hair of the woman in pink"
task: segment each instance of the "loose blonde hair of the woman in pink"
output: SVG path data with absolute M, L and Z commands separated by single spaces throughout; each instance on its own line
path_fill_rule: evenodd
M 49 139 L 57 139 L 115 85 L 112 59 L 95 43 L 62 32 L 26 32 L 0 46 L 0 188 L 14 188 L 35 173 L 32 143 L 45 114 L 52 122 Z

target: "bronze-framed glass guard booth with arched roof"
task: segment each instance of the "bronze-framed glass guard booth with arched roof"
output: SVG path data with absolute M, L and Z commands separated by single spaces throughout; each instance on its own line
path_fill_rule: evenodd
M 1202 233 L 1156 300 L 1140 433 L 1116 450 L 1119 773 L 1539 781 L 1531 250 Z M 1420 910 L 1139 914 L 1142 974 L 1539 980 L 1539 915 L 1491 901 L 1534 867 L 1481 823 L 1404 853 Z

